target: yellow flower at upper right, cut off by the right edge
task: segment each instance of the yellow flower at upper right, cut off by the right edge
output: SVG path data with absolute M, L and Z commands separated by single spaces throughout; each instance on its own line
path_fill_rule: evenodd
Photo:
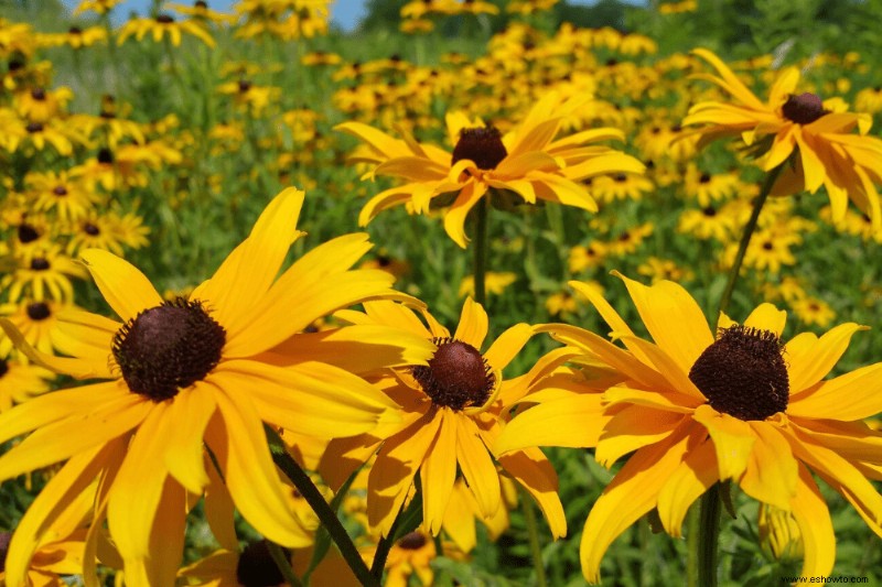
M 768 101 L 760 100 L 707 50 L 695 50 L 699 57 L 717 69 L 718 76 L 696 75 L 707 79 L 734 98 L 735 104 L 707 101 L 695 105 L 684 119 L 686 124 L 702 124 L 704 139 L 740 135 L 745 144 L 762 155 L 762 166 L 771 171 L 790 160 L 773 193 L 793 194 L 827 188 L 833 220 L 841 220 L 849 197 L 873 219 L 875 231 L 882 231 L 882 210 L 875 185 L 882 183 L 882 139 L 868 137 L 872 119 L 831 110 L 814 94 L 795 94 L 799 81 L 796 67 L 778 74 L 770 89 Z M 851 131 L 858 129 L 858 134 Z

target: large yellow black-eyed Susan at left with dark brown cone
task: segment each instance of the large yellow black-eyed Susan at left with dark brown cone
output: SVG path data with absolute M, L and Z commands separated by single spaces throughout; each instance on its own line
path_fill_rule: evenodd
M 37 497 L 64 503 L 101 476 L 93 528 L 107 521 L 129 585 L 174 583 L 186 496 L 205 491 L 206 460 L 208 468 L 216 463 L 235 507 L 256 531 L 283 546 L 309 544 L 270 456 L 265 423 L 331 437 L 397 420 L 397 404 L 352 373 L 290 352 L 283 367 L 263 360 L 327 313 L 370 297 L 397 297 L 387 273 L 349 269 L 369 248 L 365 235 L 321 244 L 279 274 L 301 235 L 302 203 L 302 192 L 279 194 L 250 236 L 189 298 L 163 301 L 128 262 L 85 251 L 83 260 L 121 322 L 72 313 L 69 357 L 31 349 L 2 323 L 34 362 L 105 381 L 56 391 L 0 415 L 2 442 L 31 433 L 0 457 L 0 479 L 69 459 Z M 395 346 L 386 343 L 384 348 Z M 358 345 L 345 352 L 358 355 Z M 204 458 L 204 446 L 212 459 Z M 24 580 L 52 513 L 25 512 L 7 559 L 11 585 Z

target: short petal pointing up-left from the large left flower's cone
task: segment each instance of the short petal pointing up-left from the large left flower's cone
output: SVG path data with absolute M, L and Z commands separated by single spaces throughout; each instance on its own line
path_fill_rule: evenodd
M 162 303 L 162 296 L 150 280 L 128 261 L 101 249 L 87 249 L 79 256 L 101 295 L 122 322 Z

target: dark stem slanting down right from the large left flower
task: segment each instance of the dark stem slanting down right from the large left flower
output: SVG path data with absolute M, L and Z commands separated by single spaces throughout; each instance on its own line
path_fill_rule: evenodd
M 322 525 L 331 534 L 334 544 L 340 548 L 340 554 L 346 561 L 346 564 L 352 568 L 355 577 L 367 587 L 379 587 L 379 581 L 370 574 L 367 565 L 358 554 L 358 550 L 353 544 L 346 530 L 340 522 L 337 514 L 331 509 L 331 506 L 324 500 L 322 493 L 313 485 L 312 479 L 300 468 L 297 460 L 294 460 L 284 447 L 284 443 L 279 437 L 279 434 L 270 426 L 263 426 L 269 442 L 269 448 L 272 453 L 272 461 L 279 467 L 282 472 L 288 477 L 303 499 L 310 504 L 312 511 L 319 517 Z

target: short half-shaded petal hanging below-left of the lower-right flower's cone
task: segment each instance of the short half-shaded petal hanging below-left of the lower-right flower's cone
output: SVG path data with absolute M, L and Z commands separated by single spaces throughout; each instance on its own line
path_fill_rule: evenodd
M 668 534 L 682 536 L 682 521 L 689 507 L 720 480 L 717 450 L 707 439 L 689 449 L 658 493 L 658 518 Z

